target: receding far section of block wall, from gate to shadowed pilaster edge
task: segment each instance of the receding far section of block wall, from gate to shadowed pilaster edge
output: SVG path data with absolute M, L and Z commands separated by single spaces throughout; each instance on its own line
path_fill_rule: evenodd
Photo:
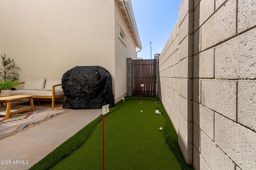
M 158 58 L 159 98 L 178 133 L 184 158 L 190 164 L 193 161 L 193 9 L 193 1 L 182 1 L 179 20 Z

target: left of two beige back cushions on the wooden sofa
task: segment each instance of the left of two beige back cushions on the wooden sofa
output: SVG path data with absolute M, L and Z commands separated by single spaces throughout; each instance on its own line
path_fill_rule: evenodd
M 45 78 L 25 78 L 24 90 L 44 90 Z

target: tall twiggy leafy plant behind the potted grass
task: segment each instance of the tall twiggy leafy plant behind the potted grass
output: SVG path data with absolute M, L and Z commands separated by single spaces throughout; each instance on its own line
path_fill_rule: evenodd
M 15 68 L 20 70 L 20 68 L 16 66 L 14 59 L 6 58 L 6 54 L 4 54 L 1 55 L 1 61 L 3 68 L 0 68 L 0 77 L 2 80 L 18 80 L 20 75 L 17 72 L 11 72 L 11 70 Z

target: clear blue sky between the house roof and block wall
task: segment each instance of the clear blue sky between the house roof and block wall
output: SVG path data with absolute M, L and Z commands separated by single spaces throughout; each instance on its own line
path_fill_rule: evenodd
M 131 0 L 137 28 L 142 43 L 138 57 L 152 59 L 161 53 L 172 29 L 178 21 L 181 0 Z M 138 51 L 138 49 L 137 49 Z

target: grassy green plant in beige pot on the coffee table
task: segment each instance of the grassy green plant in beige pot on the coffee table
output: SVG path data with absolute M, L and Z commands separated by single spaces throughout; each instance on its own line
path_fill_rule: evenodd
M 0 80 L 0 90 L 1 96 L 11 96 L 12 88 L 18 86 L 21 83 L 16 83 L 16 80 L 8 79 L 8 80 Z

